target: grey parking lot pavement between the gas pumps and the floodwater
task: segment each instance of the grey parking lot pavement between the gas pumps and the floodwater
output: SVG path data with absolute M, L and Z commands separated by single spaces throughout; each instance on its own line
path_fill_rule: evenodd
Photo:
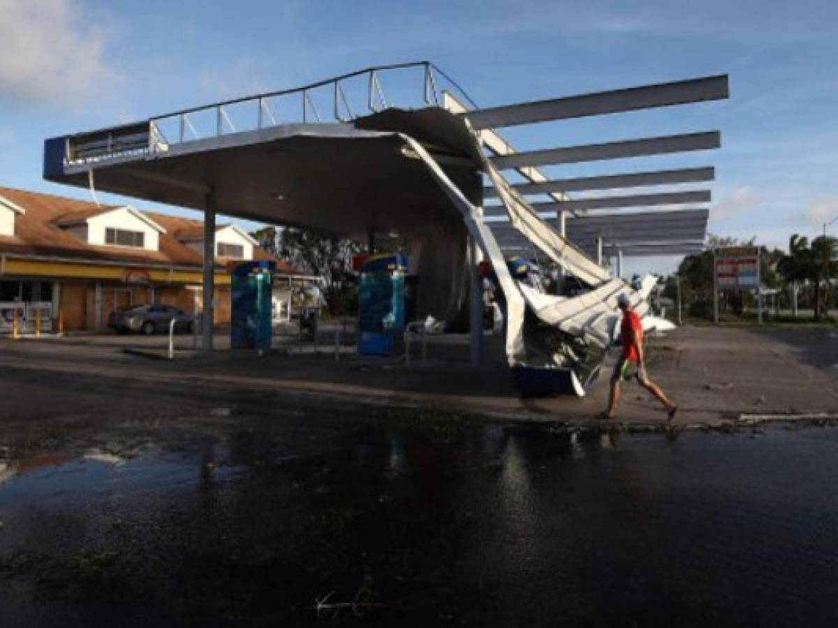
M 739 414 L 838 411 L 838 369 L 831 368 L 830 358 L 825 357 L 831 346 L 829 334 L 834 332 L 800 331 L 682 327 L 650 341 L 649 376 L 680 405 L 678 421 L 683 424 L 713 423 Z M 216 338 L 217 347 L 224 347 L 224 342 L 229 347 L 225 334 Z M 191 344 L 188 336 L 177 340 L 178 347 Z M 306 344 L 305 355 L 277 350 L 261 358 L 251 352 L 220 350 L 168 362 L 122 352 L 126 346 L 163 347 L 165 342 L 163 336 L 116 335 L 0 341 L 0 368 L 6 373 L 0 383 L 6 401 L 3 414 L 25 417 L 56 396 L 61 409 L 75 411 L 75 390 L 80 399 L 87 399 L 83 403 L 91 395 L 96 399 L 130 395 L 132 403 L 142 406 L 156 405 L 156 397 L 191 403 L 210 395 L 235 402 L 249 394 L 274 394 L 290 404 L 305 398 L 307 404 L 335 411 L 344 411 L 347 404 L 375 404 L 583 423 L 604 408 L 608 395 L 607 383 L 600 381 L 584 399 L 522 399 L 502 364 L 475 369 L 464 361 L 434 359 L 406 368 L 400 358 L 354 355 L 335 361 L 334 347 L 325 342 Z M 277 339 L 277 345 L 282 342 L 290 347 L 299 344 L 293 335 Z M 20 394 L 23 389 L 30 392 Z M 34 389 L 39 393 L 33 394 Z M 660 425 L 665 414 L 643 389 L 629 383 L 618 417 Z

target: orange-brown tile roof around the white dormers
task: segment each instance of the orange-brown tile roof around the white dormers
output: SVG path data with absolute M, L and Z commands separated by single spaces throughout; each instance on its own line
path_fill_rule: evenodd
M 15 218 L 14 235 L 0 235 L 0 253 L 111 263 L 197 267 L 203 264 L 203 255 L 198 250 L 178 240 L 179 234 L 184 232 L 200 231 L 203 234 L 204 223 L 200 220 L 141 210 L 142 214 L 166 229 L 166 233 L 159 235 L 159 250 L 88 245 L 74 234 L 61 229 L 59 224 L 90 218 L 117 206 L 99 207 L 95 203 L 75 198 L 3 187 L 0 187 L 0 196 L 8 198 L 26 211 L 26 214 Z M 259 247 L 253 248 L 253 258 L 277 261 L 277 270 L 283 274 L 302 274 Z

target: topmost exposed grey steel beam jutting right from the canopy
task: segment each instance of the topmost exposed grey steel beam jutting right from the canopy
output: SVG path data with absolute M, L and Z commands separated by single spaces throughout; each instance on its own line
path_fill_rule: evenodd
M 727 75 L 718 75 L 492 107 L 470 112 L 466 117 L 479 130 L 722 100 L 729 94 Z

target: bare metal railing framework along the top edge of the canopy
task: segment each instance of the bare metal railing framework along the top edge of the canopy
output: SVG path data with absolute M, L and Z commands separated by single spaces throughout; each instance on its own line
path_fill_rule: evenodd
M 421 89 L 416 89 L 417 83 Z M 416 108 L 411 105 L 438 107 L 443 89 L 458 92 L 477 108 L 463 88 L 430 61 L 378 65 L 303 87 L 191 107 L 146 122 L 72 136 L 65 164 L 167 152 L 179 144 L 283 124 L 349 123 L 387 109 L 396 100 L 406 109 Z

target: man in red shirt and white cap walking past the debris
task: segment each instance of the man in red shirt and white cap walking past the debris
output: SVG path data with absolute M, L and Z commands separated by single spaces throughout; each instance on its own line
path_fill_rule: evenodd
M 661 404 L 664 404 L 664 408 L 669 415 L 667 422 L 670 422 L 675 417 L 678 406 L 666 399 L 664 391 L 646 375 L 643 354 L 643 324 L 640 322 L 640 317 L 632 309 L 629 297 L 625 293 L 621 293 L 617 297 L 617 305 L 623 311 L 623 321 L 620 323 L 623 352 L 620 354 L 617 363 L 614 364 L 614 371 L 611 375 L 611 393 L 608 396 L 608 412 L 604 413 L 605 418 L 614 420 L 614 407 L 620 399 L 620 380 L 629 378 L 634 374 L 638 383 L 649 393 L 654 394 Z M 633 367 L 634 373 L 632 373 Z

